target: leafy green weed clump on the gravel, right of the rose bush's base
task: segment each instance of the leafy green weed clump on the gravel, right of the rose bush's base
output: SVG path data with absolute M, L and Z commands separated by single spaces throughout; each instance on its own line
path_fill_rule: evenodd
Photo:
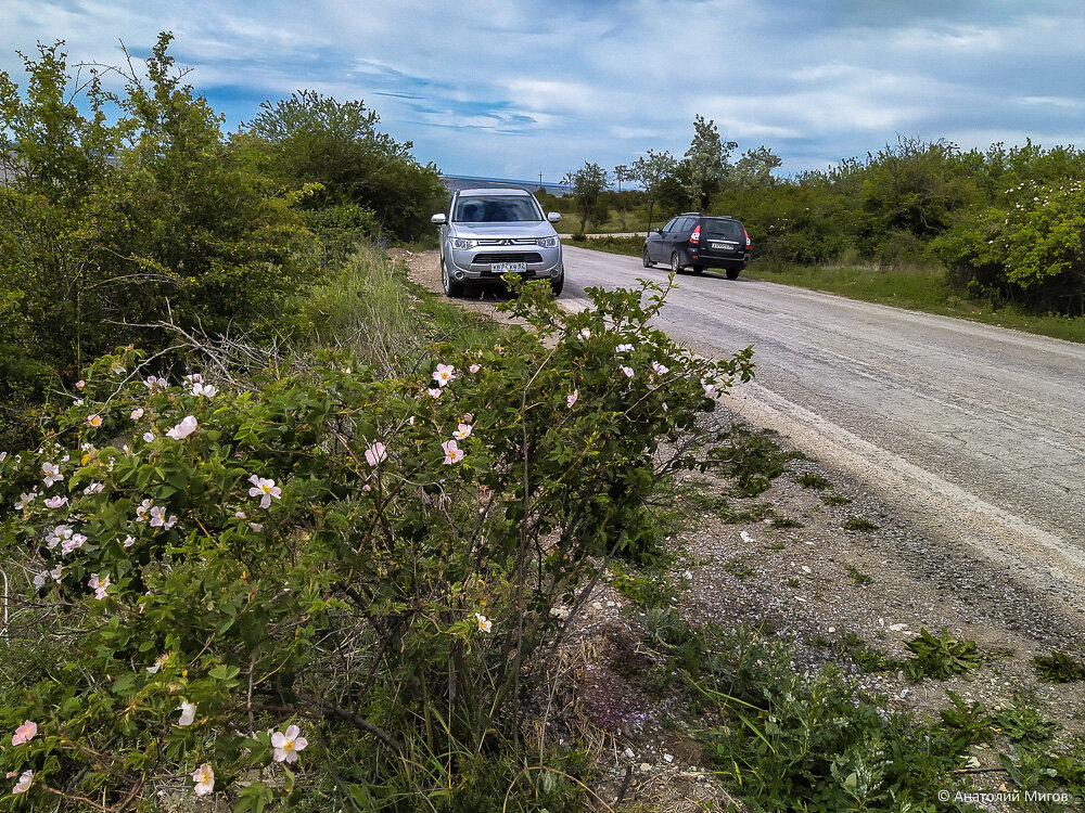
M 967 758 L 955 733 L 886 710 L 832 667 L 796 673 L 786 645 L 750 629 L 686 625 L 661 640 L 695 708 L 723 718 L 699 736 L 752 810 L 929 809 Z

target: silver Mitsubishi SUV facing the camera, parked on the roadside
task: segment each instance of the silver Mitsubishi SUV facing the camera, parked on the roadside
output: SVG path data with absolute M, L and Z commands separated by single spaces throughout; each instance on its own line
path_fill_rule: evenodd
M 561 241 L 535 196 L 519 189 L 465 189 L 452 195 L 448 214 L 430 218 L 441 225 L 441 284 L 448 296 L 501 274 L 550 280 L 553 294 L 565 284 Z

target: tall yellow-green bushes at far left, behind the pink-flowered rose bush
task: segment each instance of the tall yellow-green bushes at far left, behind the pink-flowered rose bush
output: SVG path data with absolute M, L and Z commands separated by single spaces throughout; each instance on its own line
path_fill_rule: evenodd
M 283 196 L 228 149 L 221 120 L 183 82 L 162 35 L 124 89 L 77 79 L 60 46 L 0 74 L 0 416 L 35 422 L 46 385 L 73 385 L 106 350 L 161 350 L 183 330 L 273 332 L 315 272 L 311 235 Z M 86 77 L 85 77 L 86 78 Z M 104 108 L 115 107 L 107 119 Z M 25 409 L 10 399 L 25 399 Z M 12 415 L 11 413 L 15 414 Z

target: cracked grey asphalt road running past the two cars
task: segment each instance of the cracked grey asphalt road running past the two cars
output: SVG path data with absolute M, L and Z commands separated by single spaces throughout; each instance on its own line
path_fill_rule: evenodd
M 666 275 L 566 247 L 561 299 Z M 1085 596 L 1085 346 L 713 272 L 678 278 L 660 326 L 705 356 L 753 345 L 756 380 L 728 397 L 751 423 L 880 490 L 932 539 Z

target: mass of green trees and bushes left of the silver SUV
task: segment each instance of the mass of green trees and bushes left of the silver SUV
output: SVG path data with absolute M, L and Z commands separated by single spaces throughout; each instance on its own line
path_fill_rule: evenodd
M 302 91 L 225 133 L 169 41 L 111 69 L 122 92 L 59 46 L 25 57 L 22 88 L 0 74 L 0 450 L 97 356 L 163 350 L 164 323 L 289 331 L 329 247 L 432 231 L 437 167 L 361 102 Z

